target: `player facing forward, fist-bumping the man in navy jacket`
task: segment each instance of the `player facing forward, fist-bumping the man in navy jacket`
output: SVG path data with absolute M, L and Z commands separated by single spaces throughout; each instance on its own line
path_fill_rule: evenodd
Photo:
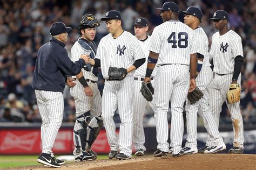
M 118 11 L 107 12 L 101 20 L 106 21 L 109 34 L 100 40 L 96 58 L 95 60 L 90 59 L 89 62 L 93 66 L 100 65 L 105 79 L 102 118 L 111 150 L 109 158 L 130 159 L 132 154 L 133 74 L 134 70 L 145 62 L 145 54 L 138 40 L 131 33 L 122 29 L 122 18 Z M 113 67 L 122 70 L 122 79 L 112 79 Z M 122 122 L 119 140 L 113 121 L 117 107 Z

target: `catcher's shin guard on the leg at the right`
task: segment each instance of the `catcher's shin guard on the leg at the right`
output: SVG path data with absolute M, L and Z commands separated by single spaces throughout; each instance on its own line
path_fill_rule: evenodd
M 103 126 L 103 121 L 101 117 L 93 117 L 90 124 L 87 127 L 87 136 L 86 136 L 86 151 L 91 150 L 91 146 L 95 139 L 97 138 L 100 129 Z

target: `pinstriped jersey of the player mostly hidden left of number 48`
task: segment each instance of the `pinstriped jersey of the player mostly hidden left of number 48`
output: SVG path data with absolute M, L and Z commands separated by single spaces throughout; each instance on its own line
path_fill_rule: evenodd
M 151 41 L 151 36 L 147 36 L 147 39 L 145 41 L 140 41 L 140 40 L 138 40 L 138 41 L 139 41 L 139 44 L 142 46 L 142 49 L 146 56 L 146 61 L 147 61 L 147 58 L 149 58 L 149 44 Z M 144 62 L 142 66 L 140 66 L 139 68 L 136 69 L 134 76 L 145 77 L 146 69 L 147 69 L 147 62 Z M 157 69 L 157 67 L 154 68 L 154 70 L 151 74 L 152 77 L 156 76 L 156 69 Z

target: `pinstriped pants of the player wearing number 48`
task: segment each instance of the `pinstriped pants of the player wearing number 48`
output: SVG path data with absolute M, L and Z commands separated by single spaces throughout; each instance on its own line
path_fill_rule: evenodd
M 171 100 L 171 146 L 173 154 L 178 154 L 181 150 L 183 139 L 183 105 L 187 97 L 189 87 L 189 67 L 186 65 L 165 65 L 160 66 L 156 76 L 155 102 L 156 102 L 156 128 L 157 128 L 157 148 L 168 152 L 168 122 L 167 111 Z

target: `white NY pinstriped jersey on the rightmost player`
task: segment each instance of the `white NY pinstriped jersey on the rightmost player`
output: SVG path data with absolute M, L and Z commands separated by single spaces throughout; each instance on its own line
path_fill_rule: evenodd
M 210 55 L 213 58 L 213 72 L 217 74 L 231 74 L 234 72 L 234 58 L 244 57 L 241 37 L 230 30 L 220 36 L 216 32 L 212 36 Z

